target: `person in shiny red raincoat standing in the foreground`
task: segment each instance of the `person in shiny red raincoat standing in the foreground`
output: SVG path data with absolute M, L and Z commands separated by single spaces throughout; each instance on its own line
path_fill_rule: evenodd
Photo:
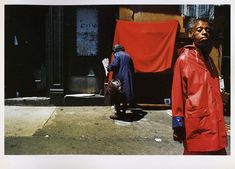
M 212 25 L 204 19 L 188 24 L 192 45 L 181 48 L 172 84 L 174 140 L 184 155 L 226 155 L 226 128 L 219 78 L 209 57 Z

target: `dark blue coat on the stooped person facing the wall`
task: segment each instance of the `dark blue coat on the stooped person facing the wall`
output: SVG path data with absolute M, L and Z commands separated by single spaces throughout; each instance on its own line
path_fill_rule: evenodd
M 121 80 L 126 101 L 133 101 L 134 64 L 129 54 L 124 51 L 115 52 L 114 60 L 108 66 L 108 71 L 113 71 L 113 78 Z

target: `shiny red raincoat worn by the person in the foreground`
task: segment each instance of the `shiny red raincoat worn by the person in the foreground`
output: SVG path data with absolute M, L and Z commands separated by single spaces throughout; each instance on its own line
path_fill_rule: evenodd
M 207 64 L 191 45 L 181 50 L 174 67 L 172 116 L 183 119 L 185 150 L 217 151 L 227 146 L 218 72 L 212 59 Z

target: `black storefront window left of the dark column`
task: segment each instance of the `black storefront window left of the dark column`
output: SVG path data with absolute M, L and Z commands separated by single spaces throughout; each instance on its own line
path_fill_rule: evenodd
M 46 6 L 5 6 L 5 98 L 47 96 Z

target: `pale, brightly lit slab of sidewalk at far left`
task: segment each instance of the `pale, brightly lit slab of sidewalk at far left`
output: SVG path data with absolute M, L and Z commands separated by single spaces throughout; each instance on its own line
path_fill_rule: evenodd
M 55 107 L 5 106 L 5 136 L 32 136 L 42 128 Z

